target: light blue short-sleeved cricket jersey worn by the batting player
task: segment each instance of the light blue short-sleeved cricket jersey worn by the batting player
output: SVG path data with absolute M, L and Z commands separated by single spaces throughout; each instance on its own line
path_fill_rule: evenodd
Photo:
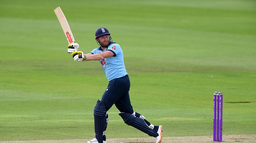
M 105 51 L 111 51 L 114 53 L 114 56 L 99 60 L 101 67 L 103 68 L 107 80 L 111 81 L 114 78 L 123 77 L 126 74 L 125 63 L 124 63 L 124 54 L 119 44 L 112 43 L 104 51 L 101 47 L 94 49 L 91 53 L 103 53 Z

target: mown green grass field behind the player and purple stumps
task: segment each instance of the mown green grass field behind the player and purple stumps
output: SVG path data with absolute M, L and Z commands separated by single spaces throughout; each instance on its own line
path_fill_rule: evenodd
M 84 53 L 108 28 L 124 52 L 133 109 L 163 125 L 164 137 L 212 135 L 214 91 L 224 94 L 223 134 L 256 134 L 256 1 L 0 3 L 0 141 L 94 135 L 108 82 L 98 61 L 67 53 L 57 6 Z M 108 112 L 107 138 L 148 137 L 118 113 Z

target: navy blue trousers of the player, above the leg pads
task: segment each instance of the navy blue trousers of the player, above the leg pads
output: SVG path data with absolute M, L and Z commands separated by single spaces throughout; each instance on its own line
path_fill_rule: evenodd
M 107 111 L 115 104 L 120 112 L 133 113 L 130 96 L 129 76 L 115 78 L 109 81 L 101 101 L 106 105 Z

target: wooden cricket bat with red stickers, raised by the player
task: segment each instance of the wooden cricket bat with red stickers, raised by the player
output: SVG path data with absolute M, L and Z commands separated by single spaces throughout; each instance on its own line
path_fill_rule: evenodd
M 65 33 L 68 43 L 69 44 L 74 43 L 75 39 L 74 39 L 74 36 L 73 36 L 71 29 L 68 25 L 68 21 L 64 15 L 64 13 L 62 12 L 62 10 L 60 9 L 59 6 L 56 9 L 54 9 L 54 12 L 59 19 L 60 25 L 62 27 L 63 32 Z

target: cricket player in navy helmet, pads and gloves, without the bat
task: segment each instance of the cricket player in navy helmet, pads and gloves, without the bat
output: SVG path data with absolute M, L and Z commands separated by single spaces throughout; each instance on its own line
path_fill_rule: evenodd
M 87 143 L 106 143 L 107 111 L 114 104 L 127 125 L 155 137 L 156 143 L 161 143 L 163 127 L 150 124 L 144 116 L 132 109 L 129 97 L 130 80 L 120 45 L 112 41 L 109 31 L 104 27 L 96 30 L 95 40 L 100 47 L 88 54 L 78 51 L 77 43 L 68 45 L 68 53 L 72 53 L 75 61 L 100 61 L 109 82 L 101 100 L 97 100 L 93 108 L 95 138 Z

